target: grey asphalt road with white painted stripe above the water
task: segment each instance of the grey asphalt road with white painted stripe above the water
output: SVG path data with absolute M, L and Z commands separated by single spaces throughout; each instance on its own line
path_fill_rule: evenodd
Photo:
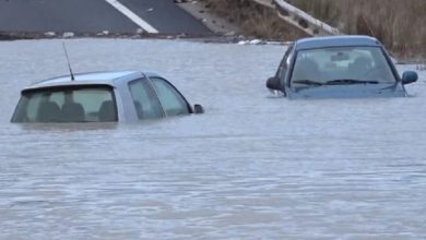
M 118 5 L 117 5 L 118 4 Z M 205 35 L 173 0 L 0 0 L 0 31 Z

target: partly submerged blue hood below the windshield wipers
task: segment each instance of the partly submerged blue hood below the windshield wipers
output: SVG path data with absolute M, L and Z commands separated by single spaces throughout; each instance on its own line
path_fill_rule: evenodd
M 309 86 L 288 91 L 288 98 L 404 97 L 401 84 L 352 84 Z

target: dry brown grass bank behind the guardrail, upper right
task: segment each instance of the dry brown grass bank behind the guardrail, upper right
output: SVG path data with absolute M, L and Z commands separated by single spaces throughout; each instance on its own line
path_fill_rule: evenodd
M 371 35 L 403 56 L 426 57 L 425 0 L 289 0 L 346 34 Z

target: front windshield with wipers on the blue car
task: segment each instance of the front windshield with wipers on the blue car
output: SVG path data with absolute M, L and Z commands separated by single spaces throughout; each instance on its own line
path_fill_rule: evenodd
M 300 50 L 292 87 L 393 84 L 395 76 L 379 47 L 334 47 Z

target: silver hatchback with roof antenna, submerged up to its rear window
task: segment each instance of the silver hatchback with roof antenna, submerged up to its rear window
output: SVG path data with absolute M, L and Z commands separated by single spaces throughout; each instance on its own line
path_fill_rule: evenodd
M 11 122 L 135 122 L 202 112 L 156 73 L 94 72 L 24 88 Z

